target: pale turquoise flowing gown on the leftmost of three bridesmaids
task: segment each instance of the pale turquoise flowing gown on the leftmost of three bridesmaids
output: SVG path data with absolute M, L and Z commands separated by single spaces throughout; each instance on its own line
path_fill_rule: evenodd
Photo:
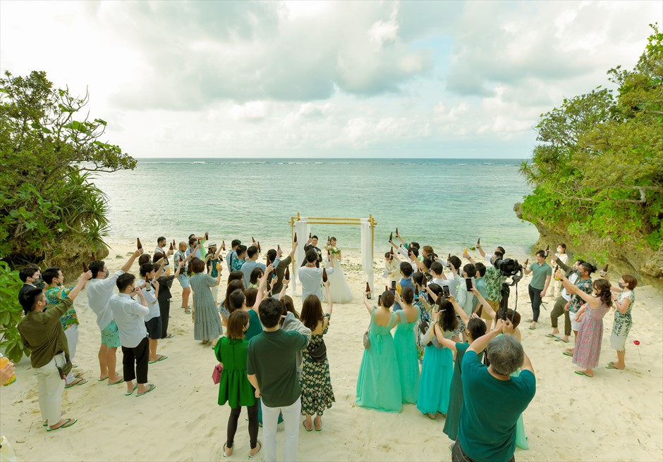
M 401 376 L 391 329 L 396 313 L 386 327 L 375 324 L 375 308 L 370 317 L 370 346 L 364 350 L 357 378 L 357 404 L 384 412 L 401 412 Z

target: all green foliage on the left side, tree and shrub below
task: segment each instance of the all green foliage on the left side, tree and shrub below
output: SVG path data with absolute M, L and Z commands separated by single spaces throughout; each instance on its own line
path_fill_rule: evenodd
M 107 122 L 90 118 L 87 94 L 56 89 L 37 71 L 27 77 L 6 72 L 0 87 L 0 258 L 6 262 L 0 277 L 25 263 L 78 274 L 92 252 L 108 254 L 107 199 L 90 175 L 133 169 L 136 161 L 102 140 Z M 20 315 L 18 289 L 7 287 L 0 292 L 0 321 L 10 317 L 0 322 L 2 346 L 20 359 L 13 322 Z

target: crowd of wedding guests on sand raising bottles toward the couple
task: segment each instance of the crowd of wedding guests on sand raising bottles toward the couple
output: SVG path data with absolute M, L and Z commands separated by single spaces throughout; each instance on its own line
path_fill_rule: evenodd
M 370 299 L 371 292 L 363 299 L 370 323 L 358 371 L 358 406 L 400 412 L 403 404 L 413 404 L 427 418 L 445 419 L 454 461 L 511 460 L 516 444 L 528 447 L 522 413 L 534 397 L 535 374 L 521 346 L 521 313 L 497 313 L 504 275 L 496 263 L 506 251 L 497 246 L 487 254 L 478 242 L 485 261 L 475 261 L 468 249 L 462 259 L 451 254 L 441 258 L 431 246 L 406 242 L 397 230 L 396 238 L 400 244 L 390 238 L 391 249 L 384 255 L 389 285 L 382 293 L 371 291 L 377 300 Z M 73 303 L 79 292 L 87 285 L 88 304 L 101 334 L 97 381 L 124 383 L 127 397 L 142 397 L 157 387 L 148 380 L 150 365 L 167 359 L 157 351 L 159 340 L 174 337 L 168 328 L 171 289 L 178 280 L 181 309 L 193 316 L 194 339 L 214 349 L 218 404 L 231 409 L 223 456 L 233 454 L 245 407 L 248 456 L 256 456 L 264 444 L 265 460 L 276 460 L 276 429 L 282 422 L 284 460 L 296 460 L 300 416 L 307 432 L 320 432 L 322 416 L 335 401 L 324 335 L 335 299 L 331 286 L 342 284 L 329 275 L 341 271 L 341 258 L 340 251 L 329 251 L 331 239 L 326 258 L 316 244 L 317 237 L 310 237 L 305 260 L 295 262 L 297 242 L 288 255 L 280 246 L 262 254 L 253 238 L 250 246 L 234 239 L 224 258 L 225 242 L 211 244 L 207 233 L 190 235 L 179 244 L 159 237 L 152 255 L 139 245 L 112 275 L 104 261 L 90 261 L 73 287 L 63 285 L 60 268 L 42 273 L 30 265 L 20 270 L 24 285 L 18 299 L 25 316 L 18 330 L 31 352 L 47 431 L 76 423 L 63 417 L 61 397 L 65 388 L 87 382 L 73 363 L 79 325 Z M 332 248 L 335 244 L 336 239 Z M 546 337 L 567 344 L 573 330 L 575 345 L 563 353 L 578 366 L 577 374 L 592 377 L 599 362 L 602 319 L 614 308 L 611 344 L 617 361 L 607 369 L 624 369 L 637 280 L 623 275 L 616 286 L 604 274 L 592 280 L 597 268 L 582 260 L 569 262 L 564 244 L 551 257 L 554 269 L 547 258 L 548 251 L 537 251 L 535 261 L 523 266 L 533 275 L 528 329 L 537 329 L 550 290 L 555 305 L 552 332 Z M 302 285 L 299 311 L 286 294 L 293 265 Z M 222 276 L 224 269 L 227 277 Z M 222 279 L 226 290 L 219 297 Z M 564 335 L 558 328 L 561 316 Z M 121 373 L 116 367 L 120 347 Z M 0 372 L 4 381 L 13 373 L 12 365 Z

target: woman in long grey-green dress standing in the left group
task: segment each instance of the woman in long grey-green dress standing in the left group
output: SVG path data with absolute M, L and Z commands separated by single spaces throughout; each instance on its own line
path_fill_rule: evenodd
M 212 296 L 212 287 L 217 287 L 221 282 L 221 270 L 217 278 L 205 274 L 205 261 L 200 258 L 193 258 L 190 263 L 193 276 L 190 284 L 193 289 L 193 338 L 202 340 L 206 345 L 212 340 L 213 344 L 224 333 L 221 327 L 221 318 L 217 311 L 217 304 Z M 220 268 L 220 267 L 219 267 Z

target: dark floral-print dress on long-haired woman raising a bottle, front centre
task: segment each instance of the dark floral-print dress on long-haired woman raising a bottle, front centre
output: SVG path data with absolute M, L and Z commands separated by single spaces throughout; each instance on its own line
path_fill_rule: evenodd
M 310 349 L 316 349 L 322 343 L 322 338 L 329 330 L 329 319 L 331 315 L 326 313 L 327 327 L 324 328 L 322 334 L 315 334 L 311 336 Z M 325 409 L 331 408 L 331 403 L 334 403 L 334 389 L 331 388 L 331 375 L 329 375 L 329 361 L 324 358 L 324 361 L 318 363 L 313 361 L 308 351 L 304 351 L 302 361 L 303 371 L 299 379 L 302 387 L 302 416 L 312 416 L 317 414 L 322 416 Z

